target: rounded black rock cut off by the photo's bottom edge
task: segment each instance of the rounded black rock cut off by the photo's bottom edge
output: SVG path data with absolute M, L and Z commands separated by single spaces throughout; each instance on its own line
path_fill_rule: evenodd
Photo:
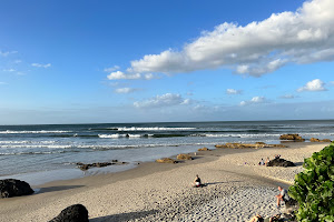
M 85 205 L 73 204 L 63 209 L 49 222 L 89 222 L 88 211 Z

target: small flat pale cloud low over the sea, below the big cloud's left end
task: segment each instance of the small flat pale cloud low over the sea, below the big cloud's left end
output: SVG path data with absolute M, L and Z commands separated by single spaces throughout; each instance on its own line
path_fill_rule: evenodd
M 163 95 L 156 95 L 155 98 L 134 102 L 136 108 L 161 108 L 170 105 L 189 104 L 189 99 L 184 99 L 180 94 L 166 93 Z

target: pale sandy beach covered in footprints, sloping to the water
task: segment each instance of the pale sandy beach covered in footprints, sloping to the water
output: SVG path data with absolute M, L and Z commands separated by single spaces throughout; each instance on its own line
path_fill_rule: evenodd
M 33 188 L 29 196 L 0 200 L 0 221 L 48 221 L 81 203 L 89 220 L 247 221 L 279 212 L 277 185 L 288 188 L 304 158 L 328 143 L 286 143 L 288 148 L 202 151 L 177 164 L 148 162 L 125 172 L 56 181 Z M 194 154 L 194 153 L 193 153 Z M 267 168 L 259 160 L 275 154 L 294 168 Z M 191 188 L 198 174 L 205 188 Z M 282 209 L 281 209 L 282 210 Z

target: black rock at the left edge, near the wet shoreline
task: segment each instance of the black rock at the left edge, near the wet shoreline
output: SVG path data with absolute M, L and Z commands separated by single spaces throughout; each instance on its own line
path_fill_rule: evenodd
M 0 198 L 12 198 L 32 194 L 29 183 L 16 179 L 0 180 Z

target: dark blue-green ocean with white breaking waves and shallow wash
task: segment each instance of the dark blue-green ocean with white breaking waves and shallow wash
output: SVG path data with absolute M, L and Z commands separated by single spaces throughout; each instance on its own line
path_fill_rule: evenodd
M 0 179 L 41 184 L 118 172 L 226 142 L 281 143 L 284 133 L 333 140 L 334 120 L 0 125 Z M 88 171 L 76 164 L 111 160 L 128 164 Z

